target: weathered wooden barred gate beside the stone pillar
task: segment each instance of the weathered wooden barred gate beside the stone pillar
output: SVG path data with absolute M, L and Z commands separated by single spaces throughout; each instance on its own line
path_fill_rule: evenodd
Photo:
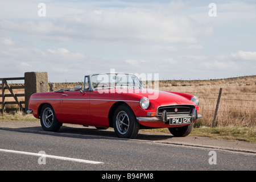
M 0 81 L 2 81 L 2 86 L 0 87 L 2 90 L 2 94 L 0 94 L 0 98 L 2 98 L 2 101 L 0 102 L 0 105 L 2 105 L 1 112 L 3 113 L 4 111 L 13 111 L 13 110 L 20 110 L 24 111 L 24 107 L 22 104 L 25 104 L 25 101 L 19 101 L 18 97 L 25 97 L 24 89 L 25 85 L 24 84 L 12 84 L 11 86 L 8 84 L 7 80 L 24 80 L 24 77 L 15 77 L 15 78 L 0 78 Z M 23 89 L 23 93 L 15 93 L 13 92 L 14 89 Z M 5 90 L 9 90 L 9 93 L 5 92 Z M 0 92 L 1 93 L 1 92 Z M 7 100 L 6 97 L 13 97 L 14 101 Z M 6 105 L 18 105 L 18 107 L 6 107 Z

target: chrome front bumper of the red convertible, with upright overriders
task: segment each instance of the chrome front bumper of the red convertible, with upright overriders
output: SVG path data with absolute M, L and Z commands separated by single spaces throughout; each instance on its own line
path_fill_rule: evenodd
M 137 117 L 137 120 L 139 122 L 158 122 L 158 121 L 162 121 L 163 123 L 166 123 L 167 121 L 170 121 L 170 119 L 172 119 L 172 118 L 184 118 L 186 116 L 188 116 L 188 115 L 168 116 L 166 111 L 163 111 L 163 114 L 158 116 L 158 117 Z M 193 117 L 193 121 L 202 117 L 201 114 L 197 114 L 196 109 L 193 109 L 192 114 L 189 114 L 189 116 Z

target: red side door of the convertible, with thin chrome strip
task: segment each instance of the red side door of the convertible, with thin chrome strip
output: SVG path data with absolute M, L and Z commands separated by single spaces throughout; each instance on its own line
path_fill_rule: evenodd
M 90 121 L 90 92 L 65 91 L 60 100 L 60 109 L 67 122 L 85 124 Z

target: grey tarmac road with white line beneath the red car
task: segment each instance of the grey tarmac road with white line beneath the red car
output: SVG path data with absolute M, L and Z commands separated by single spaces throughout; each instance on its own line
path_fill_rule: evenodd
M 166 142 L 170 138 L 166 135 L 155 135 L 158 140 L 152 140 L 152 135 L 148 134 L 139 134 L 138 139 L 119 139 L 113 131 L 70 126 L 62 127 L 59 133 L 51 133 L 42 131 L 37 125 L 0 127 L 1 171 L 256 169 L 255 150 L 248 152 L 244 149 L 226 150 L 200 144 Z

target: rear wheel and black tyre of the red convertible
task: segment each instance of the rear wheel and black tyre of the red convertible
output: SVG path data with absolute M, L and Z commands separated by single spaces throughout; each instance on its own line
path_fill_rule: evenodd
M 51 105 L 43 105 L 40 112 L 40 122 L 44 131 L 58 131 L 62 123 L 57 121 L 56 115 Z

